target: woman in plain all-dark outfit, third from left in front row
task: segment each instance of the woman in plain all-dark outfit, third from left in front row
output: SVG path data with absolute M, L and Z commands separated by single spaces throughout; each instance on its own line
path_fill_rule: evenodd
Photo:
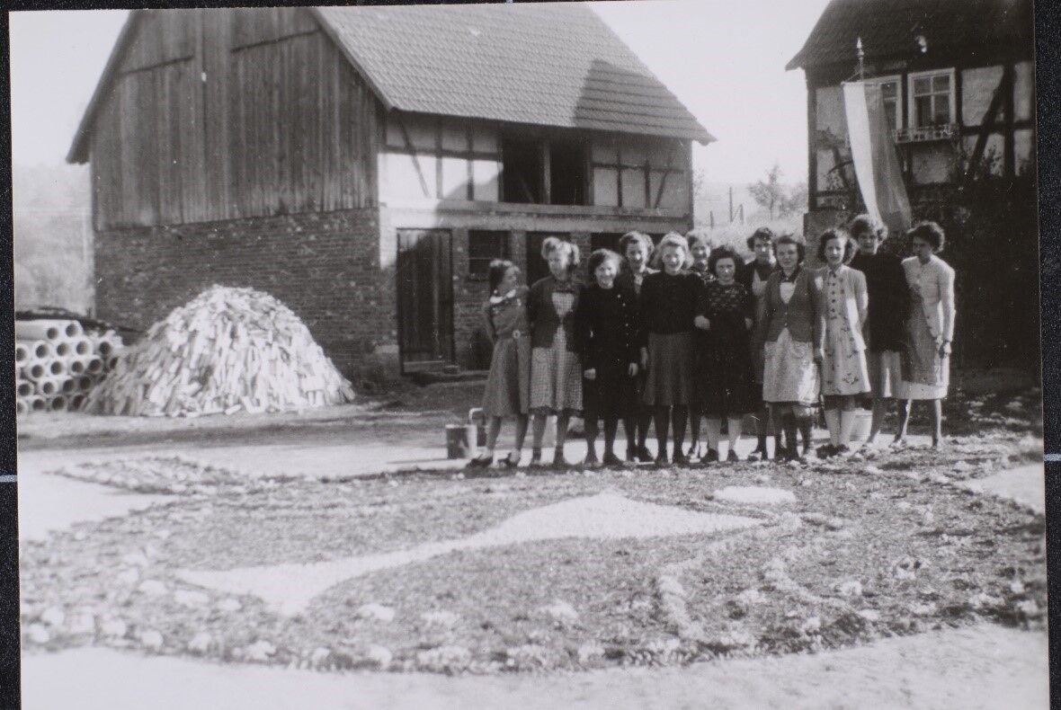
M 586 464 L 595 465 L 597 421 L 604 419 L 604 464 L 622 465 L 615 455 L 619 420 L 633 411 L 638 374 L 637 296 L 615 283 L 621 257 L 608 249 L 590 256 L 594 282 L 582 289 L 575 312 L 575 337 L 582 363 L 582 416 Z

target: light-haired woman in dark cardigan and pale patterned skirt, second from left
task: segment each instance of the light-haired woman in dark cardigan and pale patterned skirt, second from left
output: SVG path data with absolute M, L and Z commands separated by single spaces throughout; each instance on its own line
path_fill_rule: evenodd
M 541 256 L 550 275 L 530 287 L 527 315 L 530 321 L 530 412 L 534 414 L 532 465 L 541 463 L 541 441 L 546 419 L 556 416 L 556 454 L 553 465 L 567 466 L 563 445 L 568 423 L 581 414 L 582 369 L 575 340 L 575 309 L 579 285 L 574 272 L 578 247 L 556 237 L 547 238 Z

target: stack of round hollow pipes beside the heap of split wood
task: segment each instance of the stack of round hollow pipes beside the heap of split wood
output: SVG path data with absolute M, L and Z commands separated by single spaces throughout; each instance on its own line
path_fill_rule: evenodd
M 76 321 L 16 321 L 15 339 L 19 414 L 80 410 L 122 349 L 115 331 L 85 331 Z

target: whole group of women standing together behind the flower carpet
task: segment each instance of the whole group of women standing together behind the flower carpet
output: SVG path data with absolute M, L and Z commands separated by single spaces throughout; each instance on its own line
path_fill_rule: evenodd
M 827 230 L 818 242 L 825 264 L 819 270 L 804 267 L 800 241 L 769 229 L 748 239 L 754 255 L 748 263 L 728 247 L 711 249 L 700 232 L 672 232 L 654 245 L 632 231 L 620 242 L 622 256 L 593 252 L 586 283 L 576 277 L 578 248 L 557 238 L 542 246 L 550 276 L 530 288 L 514 263 L 492 262 L 483 309 L 494 344 L 484 402 L 489 429 L 471 465 L 493 462 L 504 418 L 516 420 L 516 446 L 504 463 L 520 463 L 532 418 L 530 462 L 541 463 L 545 422 L 556 416 L 553 463 L 564 466 L 568 423 L 579 414 L 588 465 L 623 463 L 614 451 L 620 421 L 627 462 L 653 460 L 649 423 L 658 464 L 721 460 L 724 427 L 725 460 L 738 461 L 742 422 L 752 413 L 759 413 L 753 456 L 769 456 L 772 419 L 775 455 L 802 458 L 819 405 L 830 440 L 818 455 L 840 455 L 850 451 L 856 409 L 872 402 L 872 443 L 890 399 L 901 402 L 897 441 L 905 440 L 909 402 L 932 400 L 938 446 L 954 271 L 936 256 L 943 245 L 937 224 L 907 232 L 915 256 L 905 260 L 880 250 L 886 236 L 867 215 L 848 229 Z

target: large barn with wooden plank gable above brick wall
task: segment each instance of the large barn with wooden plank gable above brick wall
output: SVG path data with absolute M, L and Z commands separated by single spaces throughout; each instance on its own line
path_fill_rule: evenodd
M 101 317 L 250 285 L 363 378 L 481 367 L 492 258 L 691 227 L 711 140 L 585 6 L 135 11 L 68 159 Z

